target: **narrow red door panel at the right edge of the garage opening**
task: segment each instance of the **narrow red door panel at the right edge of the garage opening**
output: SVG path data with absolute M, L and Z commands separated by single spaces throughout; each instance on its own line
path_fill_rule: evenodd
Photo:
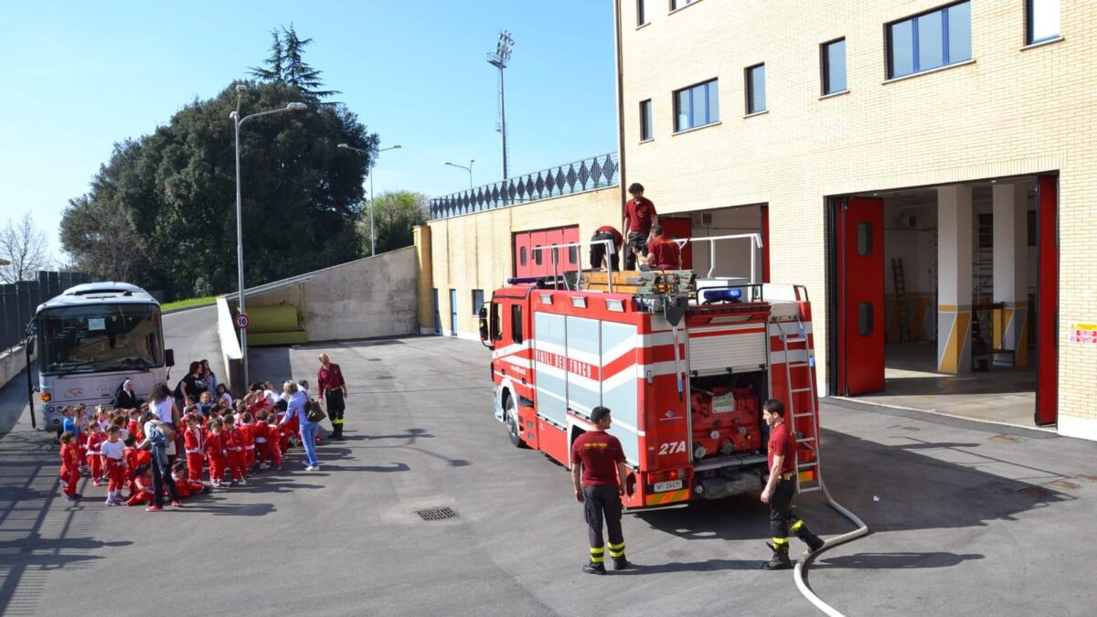
M 1036 195 L 1036 424 L 1047 426 L 1059 420 L 1059 178 L 1037 178 Z

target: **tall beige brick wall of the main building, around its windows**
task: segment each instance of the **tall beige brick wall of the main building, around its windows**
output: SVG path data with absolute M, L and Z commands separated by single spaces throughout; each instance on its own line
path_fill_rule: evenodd
M 826 195 L 1059 171 L 1060 414 L 1097 420 L 1097 346 L 1065 341 L 1067 324 L 1097 322 L 1097 2 L 1064 2 L 1063 41 L 1022 51 L 1024 0 L 973 1 L 972 63 L 885 83 L 884 24 L 946 3 L 700 0 L 668 14 L 647 0 L 635 27 L 635 1 L 619 0 L 622 182 L 644 183 L 661 214 L 769 203 L 772 280 L 808 287 L 823 333 Z M 819 45 L 838 37 L 849 92 L 821 100 Z M 744 117 L 757 63 L 768 112 Z M 672 92 L 712 78 L 720 124 L 672 134 Z M 640 143 L 645 99 L 654 139 Z

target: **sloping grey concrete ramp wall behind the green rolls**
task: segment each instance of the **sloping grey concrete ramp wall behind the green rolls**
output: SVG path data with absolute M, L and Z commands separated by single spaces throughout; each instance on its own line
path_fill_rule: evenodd
M 295 279 L 303 280 L 270 291 L 248 293 L 248 304 L 296 305 L 310 341 L 418 333 L 415 247 Z

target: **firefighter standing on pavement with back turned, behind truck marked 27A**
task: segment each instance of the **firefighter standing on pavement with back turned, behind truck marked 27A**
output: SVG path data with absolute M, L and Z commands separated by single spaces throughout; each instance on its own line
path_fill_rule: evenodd
M 575 498 L 583 503 L 583 514 L 590 535 L 590 561 L 583 566 L 588 574 L 606 573 L 606 543 L 602 540 L 602 520 L 609 531 L 610 557 L 613 569 L 630 568 L 624 557 L 624 536 L 621 535 L 621 495 L 627 478 L 624 450 L 617 437 L 606 433 L 612 418 L 606 407 L 590 411 L 595 429 L 584 433 L 572 445 L 572 484 Z M 583 482 L 579 482 L 579 463 L 583 463 Z

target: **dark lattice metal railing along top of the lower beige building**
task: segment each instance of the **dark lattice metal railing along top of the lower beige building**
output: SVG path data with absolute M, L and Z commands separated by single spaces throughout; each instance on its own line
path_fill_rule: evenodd
M 449 218 L 542 199 L 581 193 L 621 182 L 618 154 L 599 155 L 518 178 L 430 200 L 430 217 Z

